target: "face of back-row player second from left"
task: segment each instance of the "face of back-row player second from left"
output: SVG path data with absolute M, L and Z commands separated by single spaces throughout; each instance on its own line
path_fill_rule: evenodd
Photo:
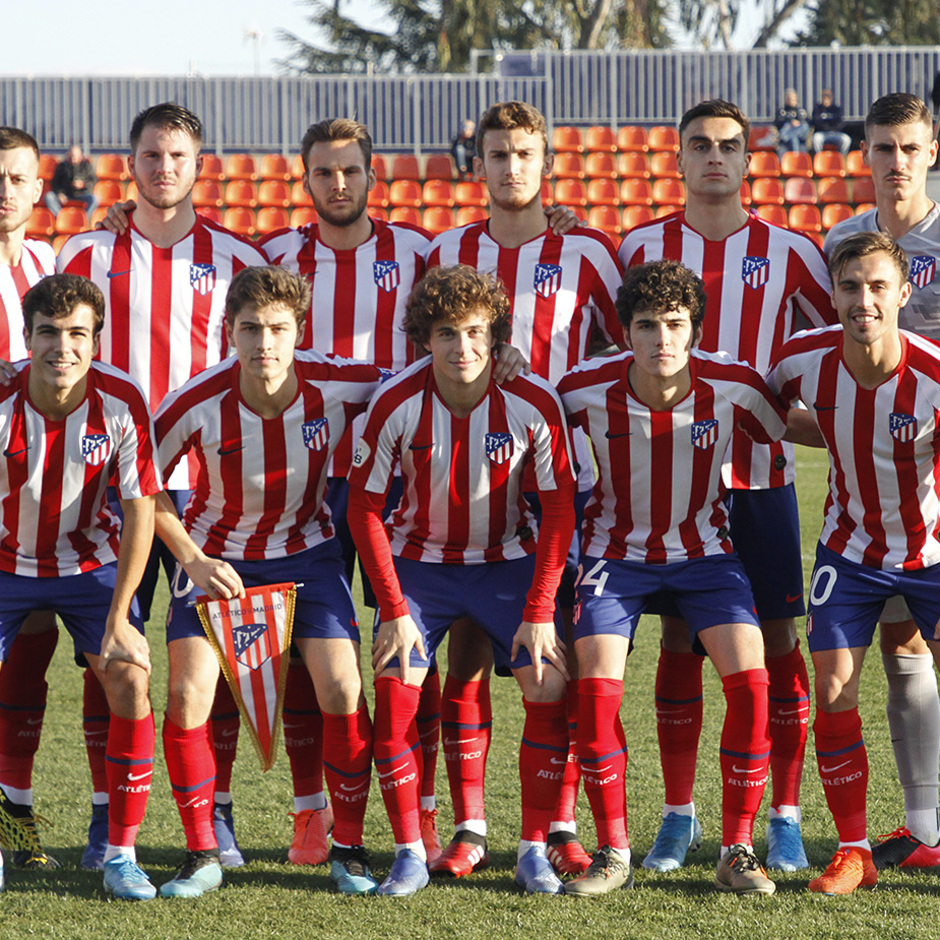
M 202 158 L 185 131 L 148 125 L 128 166 L 141 199 L 157 209 L 172 209 L 192 192 Z

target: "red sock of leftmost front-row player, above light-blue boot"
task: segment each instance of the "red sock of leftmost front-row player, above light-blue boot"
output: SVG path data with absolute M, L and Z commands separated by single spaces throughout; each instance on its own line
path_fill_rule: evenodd
M 156 732 L 146 718 L 111 716 L 108 731 L 108 842 L 133 845 L 147 811 Z

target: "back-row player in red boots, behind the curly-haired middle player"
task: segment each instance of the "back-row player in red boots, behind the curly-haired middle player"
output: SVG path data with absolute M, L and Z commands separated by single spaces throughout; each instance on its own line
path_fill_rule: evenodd
M 536 375 L 557 383 L 596 347 L 598 338 L 602 345 L 618 342 L 622 331 L 614 296 L 621 272 L 606 235 L 583 228 L 560 235 L 546 228 L 541 193 L 551 166 L 545 118 L 535 108 L 508 101 L 485 111 L 477 128 L 474 167 L 486 180 L 490 218 L 439 235 L 431 245 L 428 266 L 460 263 L 496 274 L 509 294 L 513 345 L 531 361 Z M 575 448 L 583 506 L 593 472 L 582 438 L 575 439 Z M 559 597 L 569 621 L 576 570 L 573 551 Z M 482 867 L 487 858 L 483 788 L 492 710 L 489 663 L 481 659 L 485 650 L 478 631 L 466 624 L 452 632 L 441 714 L 455 835 L 431 871 L 456 877 Z M 574 682 L 569 691 L 572 752 L 549 836 L 549 856 L 565 873 L 583 871 L 590 864 L 575 836 L 579 772 L 573 744 Z

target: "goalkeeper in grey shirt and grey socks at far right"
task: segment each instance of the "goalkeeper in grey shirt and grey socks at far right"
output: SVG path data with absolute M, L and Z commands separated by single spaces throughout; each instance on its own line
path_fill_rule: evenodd
M 872 171 L 875 208 L 836 225 L 825 250 L 831 253 L 856 232 L 893 236 L 910 269 L 911 297 L 900 325 L 940 339 L 940 206 L 927 195 L 937 142 L 924 102 L 903 92 L 879 98 L 865 120 L 862 154 Z M 933 658 L 901 598 L 885 606 L 879 632 L 906 819 L 872 854 L 877 868 L 932 867 L 940 864 L 940 696 Z

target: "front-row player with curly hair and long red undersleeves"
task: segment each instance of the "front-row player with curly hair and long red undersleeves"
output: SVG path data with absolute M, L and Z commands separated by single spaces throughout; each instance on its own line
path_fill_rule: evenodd
M 451 623 L 470 617 L 525 703 L 516 881 L 557 894 L 545 842 L 568 746 L 564 645 L 553 622 L 574 525 L 564 417 L 542 379 L 493 382 L 493 346 L 509 338 L 510 319 L 492 278 L 463 265 L 434 269 L 408 301 L 405 330 L 430 356 L 372 401 L 350 474 L 350 530 L 379 601 L 375 762 L 396 852 L 379 892 L 411 894 L 428 881 L 415 715 L 428 657 Z M 386 528 L 396 465 L 404 495 Z M 527 473 L 542 504 L 537 545 Z

